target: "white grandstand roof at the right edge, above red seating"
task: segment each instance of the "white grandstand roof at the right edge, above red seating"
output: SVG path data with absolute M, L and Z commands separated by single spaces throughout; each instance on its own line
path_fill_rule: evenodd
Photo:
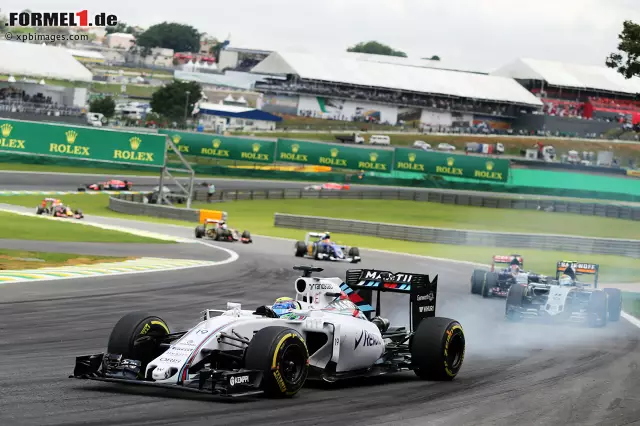
M 640 78 L 625 79 L 616 70 L 593 65 L 565 64 L 555 61 L 521 58 L 491 75 L 521 80 L 543 80 L 550 86 L 571 89 L 636 94 L 640 93 Z

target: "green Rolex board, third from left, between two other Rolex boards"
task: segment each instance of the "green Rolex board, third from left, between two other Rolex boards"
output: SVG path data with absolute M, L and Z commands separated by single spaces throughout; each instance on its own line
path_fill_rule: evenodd
M 278 139 L 276 161 L 388 173 L 393 165 L 393 150 Z

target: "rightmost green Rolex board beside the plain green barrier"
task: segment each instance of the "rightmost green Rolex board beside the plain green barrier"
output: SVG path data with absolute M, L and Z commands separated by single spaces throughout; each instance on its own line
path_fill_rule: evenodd
M 394 169 L 492 182 L 509 178 L 508 160 L 408 148 L 396 149 Z

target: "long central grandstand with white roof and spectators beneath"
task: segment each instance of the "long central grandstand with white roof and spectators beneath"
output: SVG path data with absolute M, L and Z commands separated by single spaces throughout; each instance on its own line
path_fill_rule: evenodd
M 271 53 L 252 72 L 286 79 L 256 83 L 256 90 L 265 93 L 263 109 L 392 125 L 416 119 L 424 126 L 470 127 L 486 122 L 506 126 L 543 106 L 511 78 L 367 56 Z

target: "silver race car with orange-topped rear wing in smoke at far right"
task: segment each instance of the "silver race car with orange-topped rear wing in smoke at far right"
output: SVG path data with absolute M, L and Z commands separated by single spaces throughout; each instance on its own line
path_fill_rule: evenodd
M 556 278 L 549 283 L 512 285 L 507 295 L 505 316 L 509 321 L 539 318 L 560 322 L 586 322 L 599 327 L 618 321 L 622 293 L 616 288 L 598 289 L 600 266 L 576 261 L 556 264 Z M 592 284 L 577 277 L 593 276 Z M 591 288 L 590 288 L 591 287 Z

